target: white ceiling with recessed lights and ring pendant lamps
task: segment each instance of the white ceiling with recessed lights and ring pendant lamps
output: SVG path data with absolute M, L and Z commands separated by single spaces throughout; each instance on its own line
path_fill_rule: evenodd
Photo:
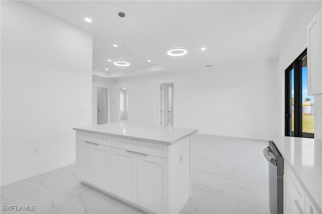
M 93 74 L 109 78 L 277 57 L 310 4 L 308 1 L 178 1 L 177 14 L 177 1 L 27 3 L 92 33 Z M 118 12 L 126 14 L 122 39 Z M 85 22 L 85 17 L 93 22 Z M 177 36 L 188 54 L 168 56 L 166 52 L 175 45 Z M 128 67 L 113 65 L 121 56 L 122 45 L 123 57 L 131 63 Z M 201 51 L 201 47 L 206 50 Z

